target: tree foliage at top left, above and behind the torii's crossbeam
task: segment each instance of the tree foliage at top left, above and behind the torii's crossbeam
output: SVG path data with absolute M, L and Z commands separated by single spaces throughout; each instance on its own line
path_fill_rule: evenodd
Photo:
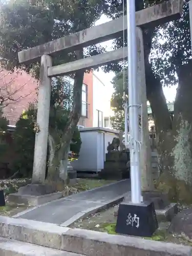
M 106 9 L 105 0 L 16 0 L 1 4 L 0 56 L 2 67 L 20 67 L 17 52 L 92 27 Z M 18 36 L 19 35 L 19 36 Z M 86 56 L 103 52 L 101 46 L 88 47 Z M 59 54 L 54 64 L 74 60 L 74 53 Z M 39 63 L 22 66 L 39 76 Z

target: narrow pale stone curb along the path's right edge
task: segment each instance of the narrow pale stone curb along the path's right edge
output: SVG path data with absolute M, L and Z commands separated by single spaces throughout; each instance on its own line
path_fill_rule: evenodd
M 101 210 L 108 209 L 108 208 L 112 207 L 113 205 L 120 203 L 123 200 L 123 198 L 125 197 L 125 195 L 127 195 L 127 193 L 125 193 L 119 197 L 116 197 L 113 200 L 109 200 L 107 202 L 101 203 L 99 206 L 91 207 L 84 211 L 80 211 L 80 212 L 78 212 L 78 214 L 74 215 L 69 220 L 61 223 L 60 226 L 68 227 L 71 224 L 73 224 L 75 221 L 78 221 L 81 219 L 86 219 L 87 217 L 89 217 L 92 214 L 96 214 L 97 212 L 99 212 Z

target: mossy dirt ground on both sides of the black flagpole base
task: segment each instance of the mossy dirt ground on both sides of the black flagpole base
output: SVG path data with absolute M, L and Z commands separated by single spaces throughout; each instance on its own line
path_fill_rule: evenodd
M 88 217 L 87 219 L 79 220 L 73 223 L 70 227 L 116 234 L 114 229 L 116 226 L 117 217 L 115 217 L 114 214 L 115 212 L 117 212 L 117 210 L 118 205 L 115 205 L 114 207 L 94 214 Z M 167 229 L 169 225 L 169 222 L 159 223 L 159 228 L 154 233 L 153 237 L 144 239 L 151 239 L 155 241 L 164 241 L 192 246 L 192 244 L 189 241 L 186 241 L 184 238 L 178 237 L 175 234 L 168 233 Z

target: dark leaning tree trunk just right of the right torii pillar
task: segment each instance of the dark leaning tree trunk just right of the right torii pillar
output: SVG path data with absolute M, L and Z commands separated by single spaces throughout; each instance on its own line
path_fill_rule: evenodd
M 155 121 L 159 174 L 161 174 L 169 170 L 170 165 L 173 165 L 170 155 L 173 146 L 172 120 L 160 79 L 154 76 L 150 63 L 147 64 L 147 68 L 145 67 L 147 99 L 150 101 Z

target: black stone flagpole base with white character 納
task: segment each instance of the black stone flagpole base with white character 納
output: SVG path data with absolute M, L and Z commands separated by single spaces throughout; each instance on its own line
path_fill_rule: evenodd
M 152 237 L 158 228 L 153 202 L 119 205 L 116 232 L 137 237 Z

